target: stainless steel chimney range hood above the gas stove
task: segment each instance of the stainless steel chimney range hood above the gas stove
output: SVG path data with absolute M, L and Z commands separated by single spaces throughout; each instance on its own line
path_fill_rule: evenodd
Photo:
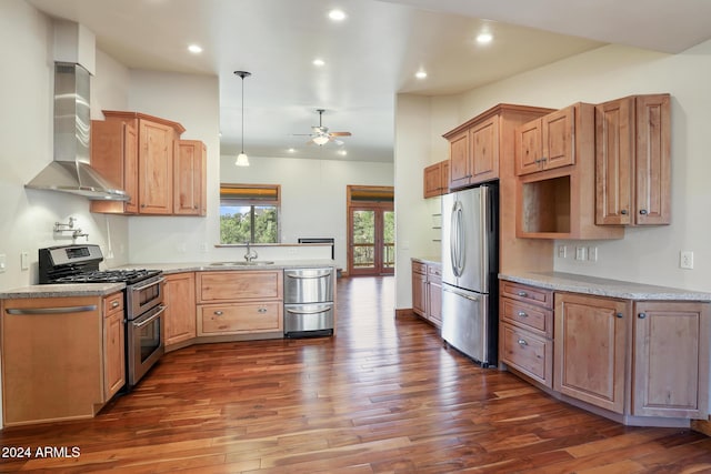
M 78 58 L 83 50 L 93 54 L 93 36 L 86 40 L 84 30 L 67 21 L 58 21 L 54 27 L 54 51 L 66 50 L 73 42 Z M 69 34 L 67 32 L 69 31 Z M 82 34 L 80 34 L 82 33 Z M 62 54 L 59 54 L 62 56 Z M 129 195 L 90 165 L 89 140 L 91 137 L 91 107 L 89 100 L 90 74 L 77 62 L 54 63 L 54 158 L 26 188 L 61 191 L 83 195 L 91 200 L 127 201 Z

